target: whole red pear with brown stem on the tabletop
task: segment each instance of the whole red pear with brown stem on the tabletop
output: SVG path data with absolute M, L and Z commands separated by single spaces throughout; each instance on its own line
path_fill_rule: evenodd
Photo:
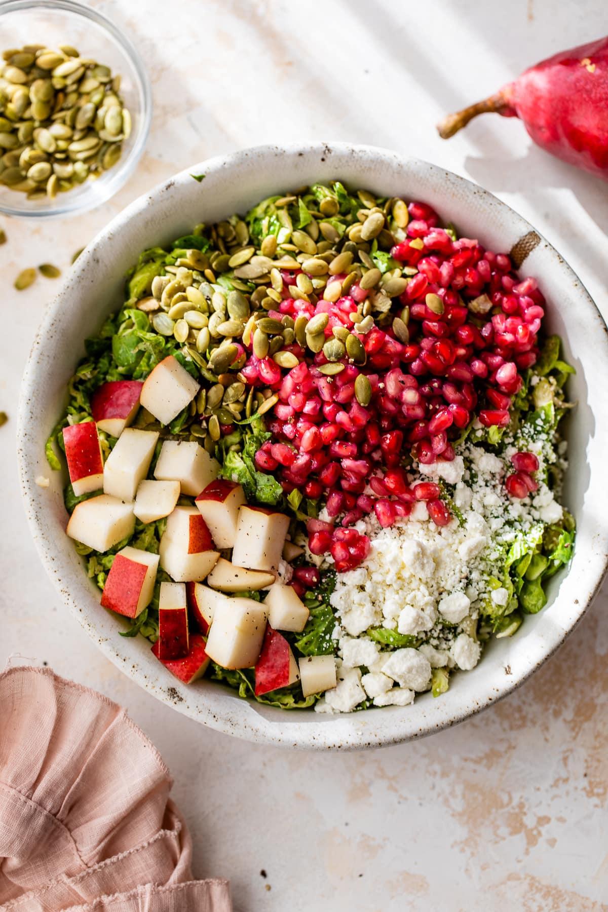
M 542 60 L 438 124 L 448 140 L 478 114 L 518 117 L 542 149 L 608 180 L 608 36 Z

